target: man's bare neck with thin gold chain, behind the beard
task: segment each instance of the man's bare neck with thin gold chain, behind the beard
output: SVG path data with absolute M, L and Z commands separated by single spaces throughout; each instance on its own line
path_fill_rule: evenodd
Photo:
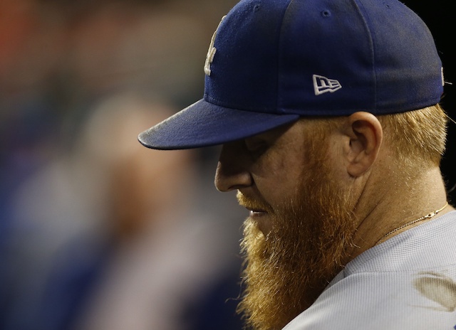
M 359 225 L 354 240 L 356 247 L 351 252 L 351 259 L 377 243 L 454 210 L 452 206 L 447 206 L 432 217 L 400 228 L 445 206 L 445 185 L 437 167 L 423 171 L 415 178 L 398 180 L 394 175 L 387 178 L 373 178 L 366 183 L 366 191 L 355 211 Z M 384 237 L 385 235 L 387 236 Z

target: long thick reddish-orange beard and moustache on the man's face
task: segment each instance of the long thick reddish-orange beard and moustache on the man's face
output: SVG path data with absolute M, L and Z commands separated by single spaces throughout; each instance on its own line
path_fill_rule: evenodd
M 327 171 L 321 163 L 307 171 L 296 198 L 275 208 L 266 238 L 254 220 L 244 223 L 245 289 L 238 312 L 253 329 L 282 329 L 314 303 L 346 262 L 356 230 L 353 196 L 331 182 Z

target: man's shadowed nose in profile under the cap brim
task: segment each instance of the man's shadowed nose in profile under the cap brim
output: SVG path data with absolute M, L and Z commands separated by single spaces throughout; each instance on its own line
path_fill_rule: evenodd
M 252 176 L 247 170 L 247 156 L 244 142 L 223 145 L 215 172 L 215 187 L 218 191 L 232 191 L 252 185 Z

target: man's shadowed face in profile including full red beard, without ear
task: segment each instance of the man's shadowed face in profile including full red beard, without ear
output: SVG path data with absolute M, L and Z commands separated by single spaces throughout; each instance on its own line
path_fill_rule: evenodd
M 254 329 L 281 329 L 341 270 L 355 231 L 351 189 L 333 174 L 329 137 L 299 121 L 224 145 L 216 186 L 238 190 L 244 295 Z

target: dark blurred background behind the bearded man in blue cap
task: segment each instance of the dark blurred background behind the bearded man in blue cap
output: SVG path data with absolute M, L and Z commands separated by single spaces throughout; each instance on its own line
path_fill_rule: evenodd
M 0 0 L 0 329 L 242 329 L 247 214 L 215 191 L 217 148 L 137 142 L 202 97 L 236 2 Z M 418 2 L 455 82 L 451 11 Z M 442 105 L 456 119 L 454 85 Z

